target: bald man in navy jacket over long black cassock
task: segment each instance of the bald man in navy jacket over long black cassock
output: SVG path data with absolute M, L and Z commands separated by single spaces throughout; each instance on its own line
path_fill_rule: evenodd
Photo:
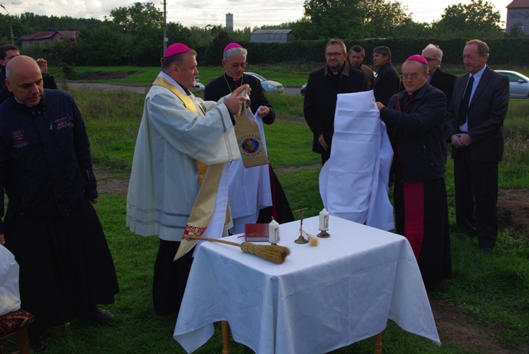
M 93 204 L 98 201 L 90 141 L 73 97 L 43 89 L 29 56 L 6 66 L 10 97 L 0 105 L 0 243 L 20 265 L 21 306 L 35 315 L 30 346 L 73 317 L 109 324 L 97 307 L 118 292 L 114 262 Z

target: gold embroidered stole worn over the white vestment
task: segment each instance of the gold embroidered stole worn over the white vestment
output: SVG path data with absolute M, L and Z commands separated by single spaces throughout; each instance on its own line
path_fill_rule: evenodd
M 195 106 L 193 100 L 191 99 L 192 97 L 189 97 L 187 94 L 183 94 L 180 90 L 178 90 L 177 87 L 171 85 L 171 83 L 169 83 L 169 81 L 165 78 L 157 77 L 152 85 L 165 87 L 176 94 L 176 96 L 182 100 L 184 106 L 186 106 L 186 109 L 189 111 L 195 112 L 199 115 L 205 113 L 205 110 L 202 112 L 198 111 L 197 106 Z M 198 106 L 200 106 L 200 102 L 196 103 Z M 202 110 L 202 107 L 200 107 L 200 109 Z M 215 203 L 217 201 L 217 192 L 219 190 L 219 183 L 222 170 L 224 169 L 224 164 L 214 164 L 207 166 L 206 164 L 197 161 L 197 166 L 200 181 L 200 191 L 198 192 L 197 199 L 193 204 L 193 209 L 191 209 L 186 230 L 183 232 L 183 242 L 181 242 L 174 260 L 178 260 L 178 258 L 185 255 L 193 248 L 195 243 L 197 243 L 196 240 L 190 240 L 189 236 L 201 237 L 204 234 L 207 226 L 209 225 L 209 221 L 212 219 Z

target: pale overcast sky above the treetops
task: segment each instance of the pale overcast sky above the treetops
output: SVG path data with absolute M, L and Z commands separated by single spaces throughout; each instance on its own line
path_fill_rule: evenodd
M 147 0 L 137 0 L 147 2 Z M 99 18 L 109 16 L 110 11 L 118 7 L 132 6 L 134 0 L 10 0 L 2 1 L 11 14 L 32 12 L 36 15 L 70 16 L 73 18 Z M 163 10 L 163 0 L 150 0 Z M 225 25 L 226 13 L 233 13 L 233 25 L 236 29 L 261 25 L 278 25 L 298 20 L 303 15 L 303 0 L 166 0 L 167 22 L 179 22 L 186 27 L 206 25 Z M 506 6 L 512 0 L 492 0 L 495 11 L 499 11 L 501 20 L 506 20 Z M 431 23 L 439 20 L 446 6 L 470 4 L 470 0 L 427 1 L 403 0 L 416 22 Z M 6 14 L 6 10 L 0 8 Z M 53 30 L 53 29 L 49 29 Z M 72 28 L 73 30 L 73 28 Z

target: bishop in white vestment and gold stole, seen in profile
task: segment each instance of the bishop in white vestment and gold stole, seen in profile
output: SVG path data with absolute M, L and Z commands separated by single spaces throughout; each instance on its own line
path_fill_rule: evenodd
M 248 90 L 243 85 L 219 102 L 204 102 L 188 89 L 198 74 L 196 52 L 175 43 L 145 97 L 127 196 L 127 226 L 157 235 L 153 300 L 158 315 L 178 313 L 192 262 L 173 262 L 183 234 L 220 237 L 226 220 L 229 162 L 239 159 L 233 114 Z

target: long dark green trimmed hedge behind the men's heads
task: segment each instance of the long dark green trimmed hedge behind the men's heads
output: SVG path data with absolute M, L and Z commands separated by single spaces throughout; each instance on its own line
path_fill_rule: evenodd
M 207 48 L 197 49 L 201 65 L 218 65 L 224 46 L 231 42 L 215 42 Z M 468 38 L 472 39 L 472 38 Z M 349 48 L 355 44 L 365 48 L 369 58 L 375 47 L 385 45 L 391 50 L 391 61 L 402 63 L 412 54 L 420 54 L 429 43 L 437 44 L 444 52 L 443 63 L 461 65 L 463 47 L 468 39 L 363 39 L 346 40 Z M 529 38 L 482 39 L 490 47 L 491 65 L 526 65 L 529 58 Z M 298 41 L 290 43 L 253 43 L 241 42 L 248 49 L 248 62 L 255 64 L 281 63 L 292 61 L 324 61 L 324 50 L 327 40 Z M 214 50 L 213 50 L 214 49 Z

